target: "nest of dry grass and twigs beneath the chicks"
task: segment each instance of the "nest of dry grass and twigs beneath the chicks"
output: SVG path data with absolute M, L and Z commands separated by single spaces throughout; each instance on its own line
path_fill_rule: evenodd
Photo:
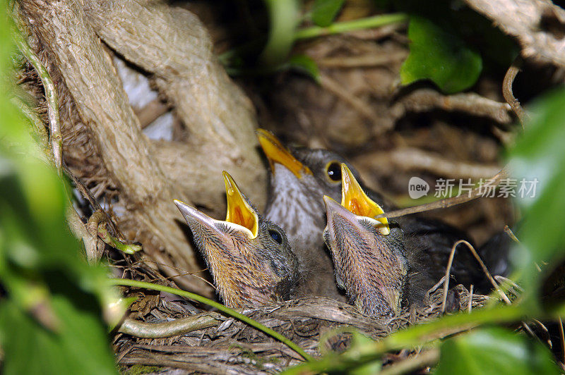
M 439 284 L 438 284 L 439 285 Z M 448 293 L 446 312 L 482 307 L 489 297 L 471 295 L 463 285 Z M 442 315 L 443 290 L 430 290 L 422 306 L 412 306 L 394 317 L 369 318 L 343 302 L 323 297 L 302 298 L 245 309 L 246 316 L 297 343 L 309 355 L 343 352 L 351 332 L 379 340 L 399 329 L 432 321 Z M 169 338 L 135 338 L 118 334 L 114 347 L 119 364 L 158 365 L 206 374 L 272 374 L 302 363 L 292 349 L 242 321 L 214 312 L 198 312 L 186 302 L 161 299 L 146 321 L 159 324 L 186 316 L 212 317 L 208 328 Z M 407 354 L 408 355 L 408 354 Z

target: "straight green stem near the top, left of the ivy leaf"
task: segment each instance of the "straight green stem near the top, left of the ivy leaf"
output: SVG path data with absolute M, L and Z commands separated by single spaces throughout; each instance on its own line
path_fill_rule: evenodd
M 312 26 L 302 30 L 297 30 L 297 32 L 295 32 L 295 40 L 320 37 L 322 35 L 339 34 L 340 32 L 370 29 L 390 25 L 391 23 L 403 23 L 407 20 L 408 15 L 405 13 L 391 13 L 359 18 L 358 20 L 333 23 L 328 27 Z

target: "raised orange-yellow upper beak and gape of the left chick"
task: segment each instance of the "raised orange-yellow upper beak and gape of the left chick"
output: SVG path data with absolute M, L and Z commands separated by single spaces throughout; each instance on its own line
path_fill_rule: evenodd
M 227 199 L 227 213 L 225 221 L 238 224 L 251 231 L 252 238 L 257 237 L 259 218 L 256 211 L 247 203 L 242 191 L 235 183 L 232 176 L 226 171 L 224 175 L 225 195 Z

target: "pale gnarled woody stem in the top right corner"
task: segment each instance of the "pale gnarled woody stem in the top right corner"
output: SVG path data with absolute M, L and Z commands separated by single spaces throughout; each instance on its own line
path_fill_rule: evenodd
M 549 0 L 465 0 L 518 38 L 522 55 L 565 66 L 565 11 Z

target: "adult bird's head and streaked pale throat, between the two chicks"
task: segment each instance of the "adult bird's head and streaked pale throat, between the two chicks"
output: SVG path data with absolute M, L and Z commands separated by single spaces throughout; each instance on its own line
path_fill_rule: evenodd
M 332 197 L 341 194 L 343 159 L 325 150 L 291 152 L 267 130 L 257 130 L 257 136 L 270 164 L 266 218 L 287 233 L 304 275 L 304 293 L 345 300 L 321 236 L 326 226 L 322 197 L 328 191 Z

